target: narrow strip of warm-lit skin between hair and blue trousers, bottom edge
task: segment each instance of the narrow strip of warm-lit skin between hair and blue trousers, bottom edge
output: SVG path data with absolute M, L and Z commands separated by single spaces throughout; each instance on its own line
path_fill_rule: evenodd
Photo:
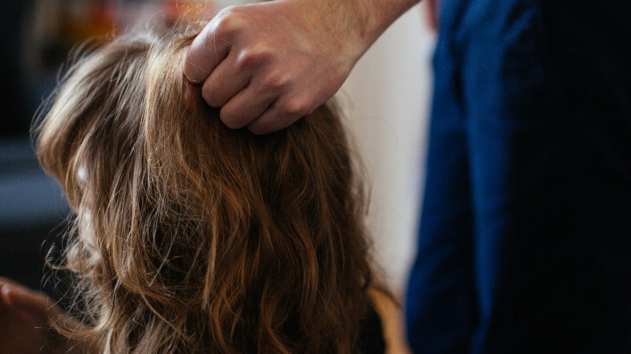
M 376 287 L 370 287 L 368 294 L 381 319 L 386 354 L 410 354 L 403 328 L 403 312 L 392 295 Z

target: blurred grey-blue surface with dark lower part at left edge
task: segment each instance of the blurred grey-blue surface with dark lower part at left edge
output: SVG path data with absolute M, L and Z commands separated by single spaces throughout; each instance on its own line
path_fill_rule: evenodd
M 60 244 L 69 207 L 28 137 L 0 139 L 0 276 L 52 293 L 44 256 Z M 52 279 L 56 281 L 55 279 Z

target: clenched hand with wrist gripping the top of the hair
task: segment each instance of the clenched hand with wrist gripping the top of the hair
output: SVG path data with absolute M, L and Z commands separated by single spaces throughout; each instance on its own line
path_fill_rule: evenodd
M 418 0 L 276 0 L 226 8 L 195 38 L 184 74 L 230 128 L 287 127 L 338 91 Z

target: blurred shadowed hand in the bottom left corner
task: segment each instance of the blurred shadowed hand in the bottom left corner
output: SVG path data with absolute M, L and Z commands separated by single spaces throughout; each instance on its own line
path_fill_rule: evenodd
M 0 353 L 54 353 L 49 317 L 61 315 L 46 295 L 0 277 Z

